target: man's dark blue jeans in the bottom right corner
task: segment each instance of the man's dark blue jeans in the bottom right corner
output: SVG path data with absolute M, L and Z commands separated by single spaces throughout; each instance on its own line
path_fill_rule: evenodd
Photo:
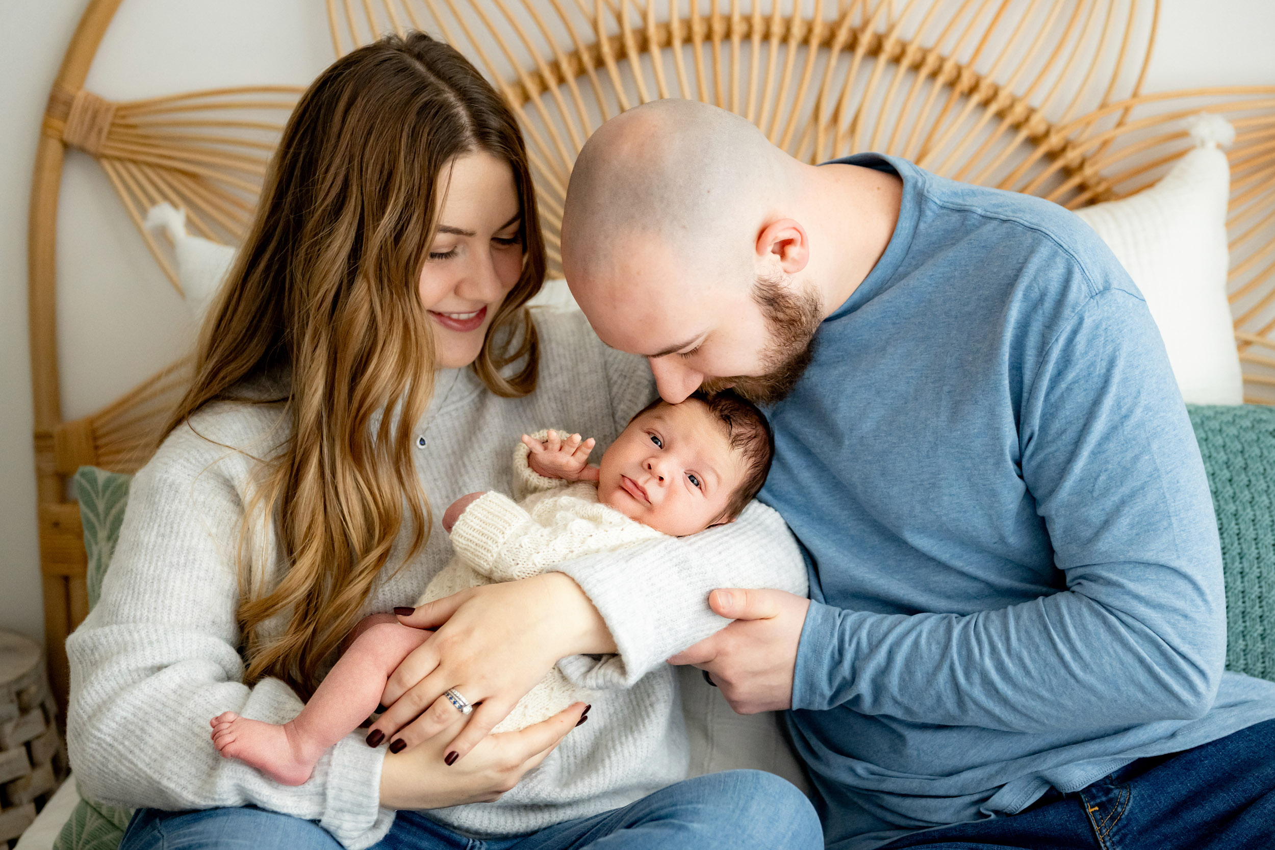
M 1005 818 L 914 832 L 881 850 L 1270 850 L 1275 720 L 1140 758 Z

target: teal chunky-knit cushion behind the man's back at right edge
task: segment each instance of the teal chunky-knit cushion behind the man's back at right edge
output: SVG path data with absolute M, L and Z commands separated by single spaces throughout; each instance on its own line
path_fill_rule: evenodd
M 1227 581 L 1227 669 L 1275 681 L 1275 408 L 1188 405 Z

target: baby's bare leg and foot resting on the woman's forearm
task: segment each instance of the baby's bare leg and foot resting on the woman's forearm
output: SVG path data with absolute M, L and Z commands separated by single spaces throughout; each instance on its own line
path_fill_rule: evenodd
M 380 702 L 399 663 L 432 632 L 403 626 L 393 614 L 360 623 L 357 637 L 319 684 L 314 697 L 282 726 L 232 711 L 213 717 L 213 743 L 283 785 L 301 785 L 329 747 L 358 728 Z

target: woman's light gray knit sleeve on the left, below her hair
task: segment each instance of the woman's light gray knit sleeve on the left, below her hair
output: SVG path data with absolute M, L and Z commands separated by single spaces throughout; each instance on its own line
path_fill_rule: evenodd
M 277 679 L 242 683 L 235 542 L 244 500 L 224 474 L 227 455 L 242 463 L 182 427 L 133 482 L 101 601 L 66 642 L 75 775 L 112 805 L 258 805 L 317 821 L 361 850 L 394 818 L 379 807 L 382 749 L 347 737 L 291 788 L 222 758 L 209 739 L 208 721 L 223 711 L 278 724 L 301 710 Z

